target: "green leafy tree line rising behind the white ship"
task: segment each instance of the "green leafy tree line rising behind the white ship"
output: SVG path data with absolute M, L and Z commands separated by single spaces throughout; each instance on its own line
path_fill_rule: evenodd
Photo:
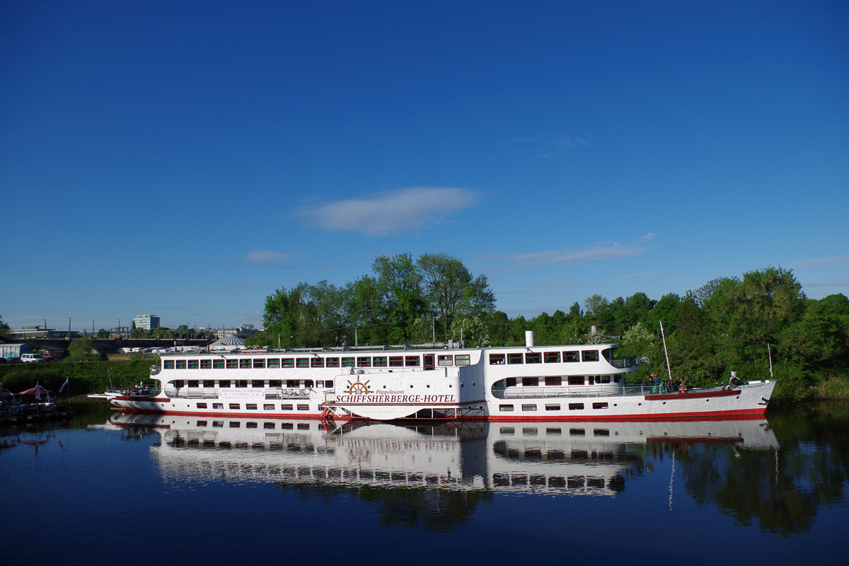
M 719 277 L 687 294 L 652 300 L 642 293 L 599 294 L 566 311 L 508 317 L 495 308 L 486 276 L 445 254 L 378 257 L 372 274 L 337 287 L 299 283 L 269 295 L 266 332 L 249 344 L 283 348 L 618 343 L 617 355 L 648 358 L 647 370 L 695 386 L 780 378 L 784 398 L 845 396 L 849 391 L 849 300 L 807 299 L 789 269 L 767 267 Z M 664 334 L 661 335 L 663 323 Z M 668 352 L 668 366 L 664 351 Z

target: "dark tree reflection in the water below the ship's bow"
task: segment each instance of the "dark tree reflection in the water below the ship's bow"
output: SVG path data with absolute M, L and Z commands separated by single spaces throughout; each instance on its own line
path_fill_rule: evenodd
M 811 530 L 819 507 L 840 503 L 849 483 L 849 405 L 774 412 L 779 450 L 675 446 L 684 487 L 740 524 L 789 537 Z

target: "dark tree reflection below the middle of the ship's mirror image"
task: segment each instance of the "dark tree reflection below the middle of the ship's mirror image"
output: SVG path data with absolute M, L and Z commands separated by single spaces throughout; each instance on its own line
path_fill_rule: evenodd
M 280 490 L 294 490 L 329 504 L 336 496 L 356 495 L 378 508 L 380 524 L 386 528 L 447 532 L 469 523 L 479 504 L 492 502 L 489 490 L 445 490 L 425 487 L 347 487 L 325 484 L 278 483 Z

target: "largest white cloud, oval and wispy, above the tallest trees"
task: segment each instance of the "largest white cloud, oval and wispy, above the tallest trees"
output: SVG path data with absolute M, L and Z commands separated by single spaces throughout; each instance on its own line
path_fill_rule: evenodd
M 481 193 L 466 188 L 411 187 L 306 205 L 298 214 L 320 230 L 390 236 L 436 225 L 480 199 Z

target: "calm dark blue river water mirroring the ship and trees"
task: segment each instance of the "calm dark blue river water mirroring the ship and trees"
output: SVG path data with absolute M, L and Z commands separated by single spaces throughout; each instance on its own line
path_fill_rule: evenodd
M 849 406 L 690 423 L 0 429 L 3 563 L 844 563 Z

